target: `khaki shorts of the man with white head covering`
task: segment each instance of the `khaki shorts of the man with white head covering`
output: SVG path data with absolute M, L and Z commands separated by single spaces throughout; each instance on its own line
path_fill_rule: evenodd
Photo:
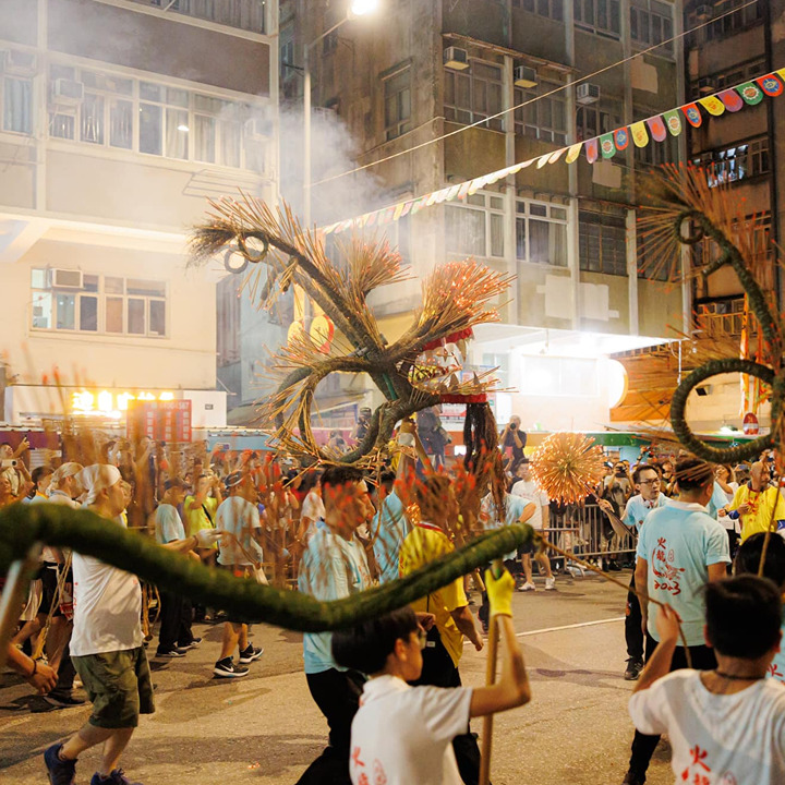
M 155 711 L 144 647 L 72 656 L 71 660 L 93 703 L 90 725 L 136 727 L 140 714 Z

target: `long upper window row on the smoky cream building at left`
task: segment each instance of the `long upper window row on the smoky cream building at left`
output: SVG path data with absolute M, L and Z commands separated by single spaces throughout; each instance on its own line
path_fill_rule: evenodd
M 55 138 L 235 169 L 264 159 L 255 152 L 263 123 L 250 120 L 247 105 L 62 65 L 52 65 L 49 76 Z

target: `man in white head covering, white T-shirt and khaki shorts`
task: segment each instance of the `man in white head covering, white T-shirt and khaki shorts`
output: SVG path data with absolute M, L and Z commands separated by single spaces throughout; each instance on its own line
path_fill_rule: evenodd
M 78 474 L 87 491 L 85 506 L 120 526 L 125 506 L 122 478 L 117 467 L 94 464 Z M 220 532 L 217 534 L 220 536 Z M 207 540 L 208 538 L 205 538 Z M 209 538 L 210 540 L 215 538 Z M 197 538 L 165 547 L 184 551 L 203 545 Z M 142 592 L 136 576 L 74 553 L 74 628 L 71 656 L 93 702 L 88 722 L 65 744 L 44 753 L 51 785 L 72 785 L 76 759 L 90 747 L 104 745 L 104 756 L 90 785 L 130 785 L 118 768 L 140 714 L 154 711 L 153 683 L 144 650 Z

